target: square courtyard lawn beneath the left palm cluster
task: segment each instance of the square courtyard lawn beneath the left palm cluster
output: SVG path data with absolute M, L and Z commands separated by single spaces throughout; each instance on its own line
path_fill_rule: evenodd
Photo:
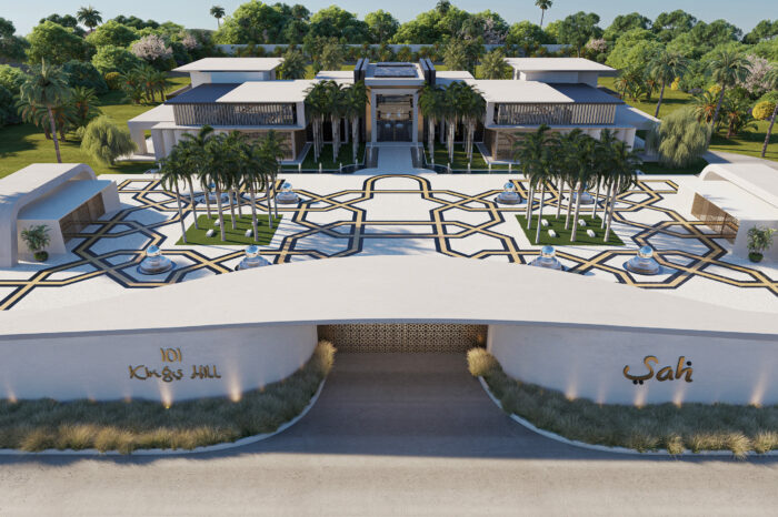
M 232 244 L 232 245 L 248 245 L 248 244 L 260 244 L 267 246 L 272 241 L 272 236 L 278 229 L 278 223 L 281 222 L 282 217 L 273 217 L 273 227 L 268 227 L 268 214 L 257 214 L 257 230 L 259 231 L 259 242 L 255 242 L 253 237 L 247 237 L 246 231 L 252 229 L 251 214 L 247 214 L 248 210 L 243 207 L 243 216 L 236 219 L 237 230 L 232 230 L 232 216 L 229 213 L 229 207 L 225 207 L 225 233 L 227 241 L 221 241 L 221 232 L 219 226 L 213 223 L 218 221 L 218 217 L 209 219 L 208 215 L 200 215 L 197 217 L 197 222 L 200 225 L 200 230 L 194 227 L 194 224 L 187 229 L 187 244 L 202 244 L 202 245 L 213 245 L 213 244 Z M 213 207 L 213 214 L 217 214 L 216 207 Z M 237 215 L 237 213 L 236 213 Z M 206 232 L 213 229 L 215 233 L 212 237 L 207 237 Z M 177 245 L 183 245 L 183 240 L 179 239 L 176 243 Z

